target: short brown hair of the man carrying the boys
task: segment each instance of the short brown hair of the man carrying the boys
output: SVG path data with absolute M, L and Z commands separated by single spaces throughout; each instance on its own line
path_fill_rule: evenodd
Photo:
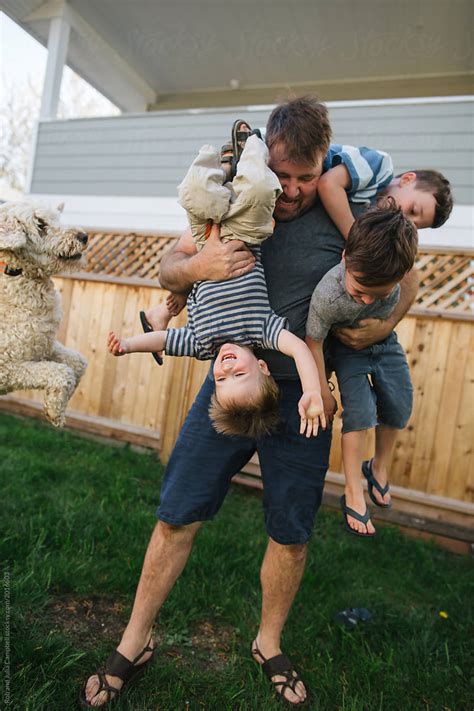
M 294 163 L 315 163 L 324 157 L 331 140 L 328 110 L 317 96 L 301 96 L 276 106 L 267 122 L 269 148 L 283 143 Z

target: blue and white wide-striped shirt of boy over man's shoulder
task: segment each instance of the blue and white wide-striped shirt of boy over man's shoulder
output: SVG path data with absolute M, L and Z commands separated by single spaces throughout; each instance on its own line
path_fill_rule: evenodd
M 365 146 L 356 148 L 331 143 L 324 159 L 323 173 L 341 164 L 346 166 L 351 178 L 347 190 L 350 202 L 370 202 L 393 178 L 393 163 L 388 153 Z

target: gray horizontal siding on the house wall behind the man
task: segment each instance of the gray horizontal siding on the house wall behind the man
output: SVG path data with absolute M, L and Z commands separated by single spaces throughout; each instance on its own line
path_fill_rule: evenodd
M 468 101 L 334 106 L 334 141 L 387 151 L 397 172 L 436 168 L 456 201 L 473 199 L 473 107 Z M 264 126 L 268 110 L 163 112 L 41 123 L 31 192 L 174 197 L 203 143 L 228 140 L 236 117 Z

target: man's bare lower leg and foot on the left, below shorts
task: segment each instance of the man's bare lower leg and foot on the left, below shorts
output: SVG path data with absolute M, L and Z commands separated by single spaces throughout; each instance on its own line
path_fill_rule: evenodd
M 148 544 L 130 621 L 117 647 L 127 659 L 134 659 L 148 644 L 156 616 L 186 565 L 200 525 L 170 526 L 163 521 L 157 523 Z M 144 655 L 140 663 L 146 662 L 150 654 Z M 121 688 L 122 681 L 119 678 L 106 678 L 109 684 Z M 86 699 L 90 704 L 100 707 L 107 701 L 107 694 L 97 694 L 98 686 L 97 676 L 91 676 L 86 685 Z

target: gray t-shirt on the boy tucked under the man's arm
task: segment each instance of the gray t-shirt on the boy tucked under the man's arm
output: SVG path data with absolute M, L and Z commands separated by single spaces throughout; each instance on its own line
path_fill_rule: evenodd
M 309 307 L 306 333 L 315 341 L 324 341 L 332 326 L 357 328 L 365 318 L 386 319 L 400 299 L 400 285 L 385 299 L 359 304 L 345 287 L 346 269 L 340 262 L 331 269 L 314 290 Z

